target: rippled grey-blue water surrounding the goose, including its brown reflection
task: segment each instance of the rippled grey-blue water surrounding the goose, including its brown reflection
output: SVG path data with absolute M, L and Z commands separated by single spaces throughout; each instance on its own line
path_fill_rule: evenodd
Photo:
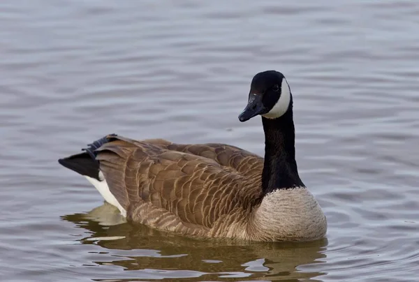
M 419 281 L 418 15 L 395 0 L 0 1 L 0 281 Z M 291 84 L 323 241 L 122 223 L 57 163 L 107 133 L 263 154 L 260 119 L 237 115 L 267 69 Z

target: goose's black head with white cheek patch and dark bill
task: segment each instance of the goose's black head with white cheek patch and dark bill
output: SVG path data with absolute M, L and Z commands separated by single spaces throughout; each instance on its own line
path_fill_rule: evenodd
M 278 71 L 264 71 L 253 77 L 246 108 L 239 115 L 247 121 L 260 114 L 267 119 L 276 119 L 286 113 L 291 103 L 288 82 Z

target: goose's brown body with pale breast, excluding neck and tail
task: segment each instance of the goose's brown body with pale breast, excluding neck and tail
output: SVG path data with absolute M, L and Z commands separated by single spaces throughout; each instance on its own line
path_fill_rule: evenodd
M 305 187 L 263 195 L 260 156 L 226 144 L 108 139 L 96 160 L 129 221 L 182 235 L 254 241 L 325 234 L 323 212 Z

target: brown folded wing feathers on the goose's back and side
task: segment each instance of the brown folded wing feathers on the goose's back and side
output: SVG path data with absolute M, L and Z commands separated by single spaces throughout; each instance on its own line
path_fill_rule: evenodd
M 153 220 L 154 225 L 166 224 L 168 229 L 180 221 L 189 228 L 212 228 L 221 216 L 245 209 L 260 194 L 255 181 L 260 181 L 263 158 L 247 151 L 223 144 L 110 138 L 97 150 L 96 159 L 128 217 L 138 218 L 130 211 L 155 213 L 149 220 L 141 216 L 142 223 Z M 253 189 L 245 185 L 249 177 L 253 177 Z

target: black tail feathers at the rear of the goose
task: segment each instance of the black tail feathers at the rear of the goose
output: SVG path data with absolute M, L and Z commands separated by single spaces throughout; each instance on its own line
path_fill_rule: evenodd
M 96 161 L 96 152 L 95 150 L 101 147 L 103 144 L 110 142 L 112 136 L 117 136 L 116 134 L 107 135 L 101 139 L 94 141 L 91 144 L 87 145 L 87 148 L 82 149 L 84 153 L 69 156 L 67 158 L 60 158 L 58 162 L 63 165 L 65 168 L 74 170 L 80 175 L 91 177 L 99 181 L 103 180 L 99 178 L 99 162 Z

